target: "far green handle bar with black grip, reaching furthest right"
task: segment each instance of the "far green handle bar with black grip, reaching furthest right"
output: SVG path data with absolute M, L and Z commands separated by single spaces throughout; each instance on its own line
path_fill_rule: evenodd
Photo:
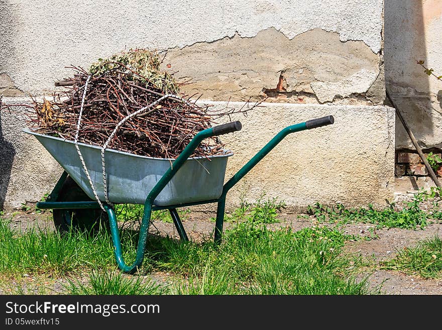
M 249 160 L 247 164 L 244 165 L 229 181 L 226 182 L 223 187 L 223 193 L 218 200 L 218 207 L 216 211 L 216 225 L 214 235 L 215 243 L 220 243 L 223 233 L 224 211 L 226 207 L 227 192 L 290 133 L 330 125 L 334 122 L 335 119 L 333 118 L 333 116 L 326 116 L 284 128 L 272 140 L 270 140 L 251 160 Z

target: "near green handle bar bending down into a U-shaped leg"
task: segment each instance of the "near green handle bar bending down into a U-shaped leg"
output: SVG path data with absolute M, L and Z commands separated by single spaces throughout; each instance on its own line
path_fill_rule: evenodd
M 175 159 L 172 163 L 171 167 L 163 174 L 163 176 L 158 180 L 157 184 L 152 188 L 149 194 L 146 197 L 146 201 L 144 203 L 144 212 L 143 218 L 141 221 L 140 228 L 140 237 L 138 240 L 137 247 L 137 255 L 135 262 L 128 266 L 124 259 L 121 247 L 121 239 L 120 233 L 118 229 L 117 217 L 115 215 L 115 211 L 111 207 L 107 207 L 107 215 L 109 217 L 109 223 L 111 225 L 111 234 L 112 240 L 114 243 L 114 253 L 118 263 L 118 266 L 121 270 L 127 273 L 132 273 L 137 270 L 137 268 L 142 264 L 145 248 L 146 248 L 146 240 L 150 225 L 150 218 L 152 213 L 152 204 L 158 194 L 163 190 L 163 188 L 167 185 L 167 183 L 172 179 L 175 173 L 181 168 L 184 162 L 190 157 L 196 147 L 201 143 L 202 140 L 206 138 L 210 138 L 215 135 L 227 134 L 235 131 L 241 130 L 240 122 L 233 122 L 229 124 L 219 125 L 213 128 L 206 129 L 204 131 L 199 132 L 195 135 L 195 137 L 190 141 L 190 143 L 184 148 L 181 154 Z

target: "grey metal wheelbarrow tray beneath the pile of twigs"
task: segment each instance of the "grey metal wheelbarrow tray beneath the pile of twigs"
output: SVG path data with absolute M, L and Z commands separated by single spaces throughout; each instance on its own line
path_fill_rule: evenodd
M 54 157 L 69 176 L 91 199 L 94 198 L 73 141 L 32 134 Z M 104 201 L 101 168 L 101 148 L 78 143 L 95 191 Z M 216 199 L 223 192 L 227 160 L 233 153 L 188 159 L 154 200 L 154 205 L 164 206 Z M 144 204 L 149 191 L 166 173 L 174 159 L 138 156 L 127 152 L 106 149 L 104 152 L 107 195 L 113 203 Z

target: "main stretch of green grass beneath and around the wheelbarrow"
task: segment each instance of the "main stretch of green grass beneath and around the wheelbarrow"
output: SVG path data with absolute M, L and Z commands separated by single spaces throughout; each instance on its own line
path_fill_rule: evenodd
M 359 261 L 342 254 L 344 244 L 358 237 L 329 226 L 267 229 L 266 224 L 278 221 L 285 203 L 276 198 L 264 200 L 264 195 L 255 203 L 243 203 L 234 213 L 235 223 L 220 245 L 214 245 L 212 238 L 196 243 L 150 235 L 143 265 L 135 276 L 115 272 L 112 240 L 104 231 L 96 236 L 68 233 L 63 237 L 39 229 L 19 233 L 0 217 L 0 272 L 16 278 L 25 273 L 61 276 L 68 279 L 65 290 L 69 294 L 380 293 L 368 288 L 367 278 L 356 281 L 352 272 Z M 142 216 L 143 205 L 117 208 L 123 225 Z M 162 214 L 155 216 L 167 221 Z M 123 257 L 130 264 L 135 259 L 138 231 L 124 229 L 121 235 Z M 157 271 L 168 274 L 167 285 L 139 275 Z

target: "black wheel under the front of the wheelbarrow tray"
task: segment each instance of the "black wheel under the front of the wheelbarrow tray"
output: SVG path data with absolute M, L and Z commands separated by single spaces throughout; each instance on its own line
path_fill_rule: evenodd
M 57 201 L 90 201 L 86 193 L 69 176 L 63 183 Z M 107 213 L 100 208 L 54 209 L 54 225 L 60 234 L 70 231 L 95 235 L 100 229 L 110 230 Z

